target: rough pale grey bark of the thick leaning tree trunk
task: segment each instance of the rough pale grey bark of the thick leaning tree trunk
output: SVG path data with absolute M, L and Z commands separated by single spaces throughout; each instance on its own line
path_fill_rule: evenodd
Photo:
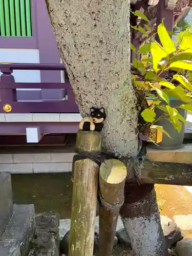
M 104 107 L 104 151 L 126 159 L 136 157 L 138 112 L 130 80 L 130 0 L 45 1 L 81 115 L 92 106 Z M 148 221 L 160 225 L 158 218 Z M 133 247 L 140 248 L 145 220 L 134 217 L 129 223 L 141 227 L 136 234 L 130 232 Z M 161 247 L 161 228 L 145 232 L 153 233 L 158 243 L 155 247 Z M 156 248 L 151 248 L 150 254 L 142 250 L 137 256 L 166 255 L 165 250 L 156 253 Z

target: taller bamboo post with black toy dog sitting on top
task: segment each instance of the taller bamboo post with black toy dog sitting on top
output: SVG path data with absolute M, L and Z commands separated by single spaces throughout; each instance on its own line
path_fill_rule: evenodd
M 101 146 L 99 133 L 77 132 L 69 256 L 93 255 L 99 165 L 86 155 L 100 156 Z

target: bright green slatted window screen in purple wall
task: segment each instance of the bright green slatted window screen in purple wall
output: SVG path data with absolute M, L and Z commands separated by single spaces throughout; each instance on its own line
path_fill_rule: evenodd
M 31 0 L 0 0 L 0 36 L 32 36 Z

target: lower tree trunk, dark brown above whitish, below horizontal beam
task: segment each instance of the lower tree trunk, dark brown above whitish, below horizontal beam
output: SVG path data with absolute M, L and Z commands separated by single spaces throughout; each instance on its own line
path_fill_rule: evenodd
M 153 184 L 125 184 L 120 214 L 137 256 L 168 256 Z

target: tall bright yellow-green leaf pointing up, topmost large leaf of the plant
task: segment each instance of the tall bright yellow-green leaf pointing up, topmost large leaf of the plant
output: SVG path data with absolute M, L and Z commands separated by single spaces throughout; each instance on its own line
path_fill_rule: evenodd
M 176 47 L 175 47 L 174 41 L 172 41 L 172 39 L 168 35 L 168 32 L 167 32 L 167 30 L 166 30 L 166 28 L 165 28 L 165 26 L 163 24 L 163 21 L 158 26 L 157 32 L 158 32 L 159 39 L 161 41 L 161 44 L 163 46 L 164 51 L 167 54 L 175 52 L 176 51 Z

